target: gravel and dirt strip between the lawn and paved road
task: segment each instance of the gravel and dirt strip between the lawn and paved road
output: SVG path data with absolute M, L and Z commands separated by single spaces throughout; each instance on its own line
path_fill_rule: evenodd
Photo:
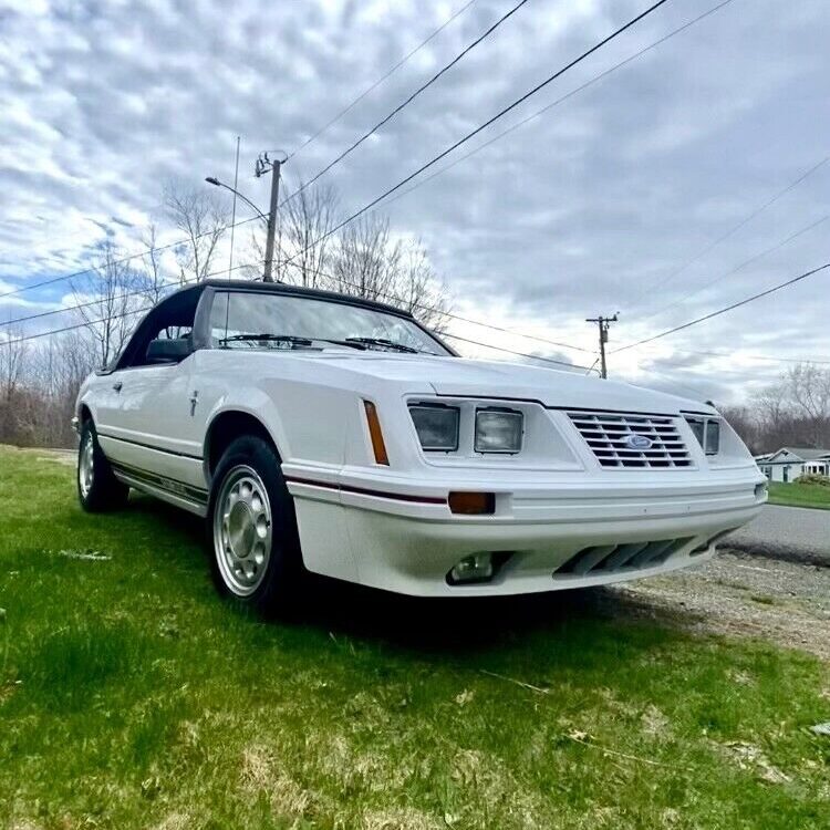
M 699 633 L 756 636 L 830 661 L 830 569 L 718 553 L 699 569 L 601 592 L 613 614 Z

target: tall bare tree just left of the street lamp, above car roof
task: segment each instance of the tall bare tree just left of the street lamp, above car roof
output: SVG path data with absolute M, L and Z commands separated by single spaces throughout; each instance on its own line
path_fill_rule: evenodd
M 219 240 L 228 228 L 228 210 L 210 193 L 168 183 L 164 204 L 187 241 L 176 249 L 181 283 L 207 279 Z

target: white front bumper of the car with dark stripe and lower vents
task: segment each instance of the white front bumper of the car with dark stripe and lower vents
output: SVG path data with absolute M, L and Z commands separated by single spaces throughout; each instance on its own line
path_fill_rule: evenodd
M 310 570 L 419 596 L 533 593 L 676 570 L 710 558 L 715 541 L 766 501 L 764 477 L 749 468 L 457 487 L 364 470 L 329 480 L 319 470 L 286 474 Z M 452 489 L 495 492 L 495 515 L 453 515 Z M 460 559 L 485 551 L 506 559 L 491 581 L 447 582 Z

